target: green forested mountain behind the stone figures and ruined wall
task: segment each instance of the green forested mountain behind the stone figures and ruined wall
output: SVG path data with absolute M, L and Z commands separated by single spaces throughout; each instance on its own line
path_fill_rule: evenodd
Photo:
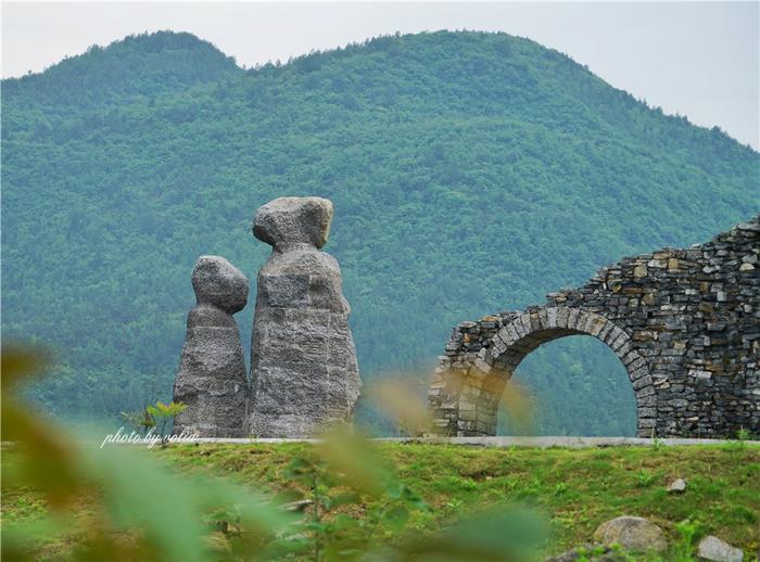
M 170 395 L 197 257 L 255 282 L 268 246 L 251 219 L 277 196 L 335 205 L 325 250 L 365 379 L 421 376 L 453 324 L 705 241 L 760 203 L 750 148 L 505 34 L 381 37 L 251 71 L 189 34 L 134 36 L 3 80 L 2 157 L 3 337 L 54 346 L 30 392 L 64 416 Z M 633 431 L 624 370 L 593 340 L 520 370 L 540 431 Z

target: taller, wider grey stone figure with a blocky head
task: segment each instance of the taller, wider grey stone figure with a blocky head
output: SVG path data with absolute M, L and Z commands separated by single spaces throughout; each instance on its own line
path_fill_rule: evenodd
M 335 258 L 320 252 L 332 203 L 280 197 L 258 209 L 253 234 L 273 253 L 258 272 L 250 431 L 307 437 L 350 419 L 359 396 L 350 306 Z

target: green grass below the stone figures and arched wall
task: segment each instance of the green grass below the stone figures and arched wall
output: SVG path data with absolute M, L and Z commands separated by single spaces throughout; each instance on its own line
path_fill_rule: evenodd
M 755 560 L 760 547 L 760 447 L 609 447 L 593 449 L 480 448 L 452 445 L 378 445 L 398 475 L 430 507 L 413 512 L 400 535 L 432 532 L 447 522 L 486 508 L 527 504 L 546 514 L 553 532 L 547 552 L 590 542 L 594 529 L 619 515 L 639 515 L 662 527 L 672 544 L 675 525 L 700 523 L 743 548 Z M 294 456 L 312 455 L 308 444 L 182 445 L 154 450 L 170 470 L 225 475 L 273 493 L 299 485 L 283 474 Z M 14 454 L 3 452 L 3 471 Z M 684 494 L 666 491 L 670 482 L 687 481 Z M 39 495 L 28 488 L 3 488 L 3 525 L 29 522 L 45 511 Z M 366 504 L 364 507 L 367 507 Z M 363 507 L 352 508 L 362 516 Z M 87 510 L 87 501 L 81 508 Z M 48 545 L 53 558 L 64 554 L 76 538 L 64 536 Z

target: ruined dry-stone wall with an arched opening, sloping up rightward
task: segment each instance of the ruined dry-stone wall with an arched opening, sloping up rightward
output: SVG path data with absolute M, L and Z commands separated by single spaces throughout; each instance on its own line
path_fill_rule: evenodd
M 624 365 L 639 437 L 760 433 L 759 256 L 755 217 L 705 244 L 623 258 L 544 305 L 460 322 L 433 375 L 430 433 L 495 435 L 515 369 L 572 334 L 605 342 Z M 460 404 L 474 392 L 465 417 Z

